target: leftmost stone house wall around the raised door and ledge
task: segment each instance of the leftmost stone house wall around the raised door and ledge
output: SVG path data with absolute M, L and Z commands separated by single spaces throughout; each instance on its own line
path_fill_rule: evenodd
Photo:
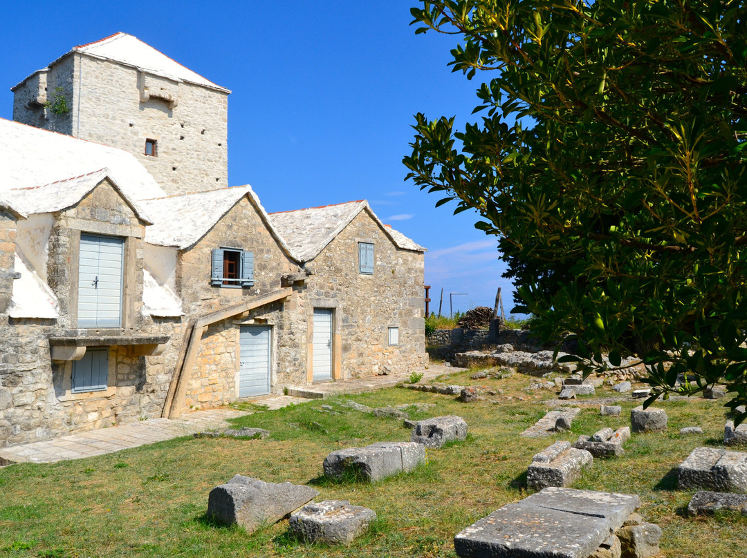
M 143 224 L 108 181 L 78 204 L 59 213 L 49 237 L 47 276 L 58 296 L 59 319 L 9 319 L 0 316 L 0 446 L 49 439 L 75 430 L 104 427 L 137 418 L 160 416 L 169 386 L 176 347 L 158 356 L 134 354 L 133 347 L 109 349 L 108 389 L 71 392 L 72 362 L 50 359 L 49 338 L 75 335 L 150 335 L 181 333 L 180 320 L 154 322 L 142 313 Z M 9 228 L 0 227 L 10 233 Z M 79 330 L 75 324 L 78 231 L 128 236 L 125 282 L 128 323 L 118 330 Z M 9 236 L 10 238 L 10 236 Z M 7 260 L 10 244 L 0 243 Z M 13 252 L 11 251 L 10 254 Z M 5 260 L 3 260 L 5 261 Z M 126 278 L 129 278 L 127 280 Z M 173 345 L 173 342 L 170 344 Z

